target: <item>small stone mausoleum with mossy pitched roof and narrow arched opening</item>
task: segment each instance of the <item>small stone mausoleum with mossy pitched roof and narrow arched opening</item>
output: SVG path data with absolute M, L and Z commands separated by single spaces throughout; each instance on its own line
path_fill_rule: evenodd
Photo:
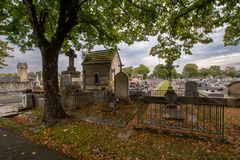
M 92 51 L 82 62 L 84 90 L 114 93 L 114 77 L 120 72 L 121 59 L 116 50 Z

